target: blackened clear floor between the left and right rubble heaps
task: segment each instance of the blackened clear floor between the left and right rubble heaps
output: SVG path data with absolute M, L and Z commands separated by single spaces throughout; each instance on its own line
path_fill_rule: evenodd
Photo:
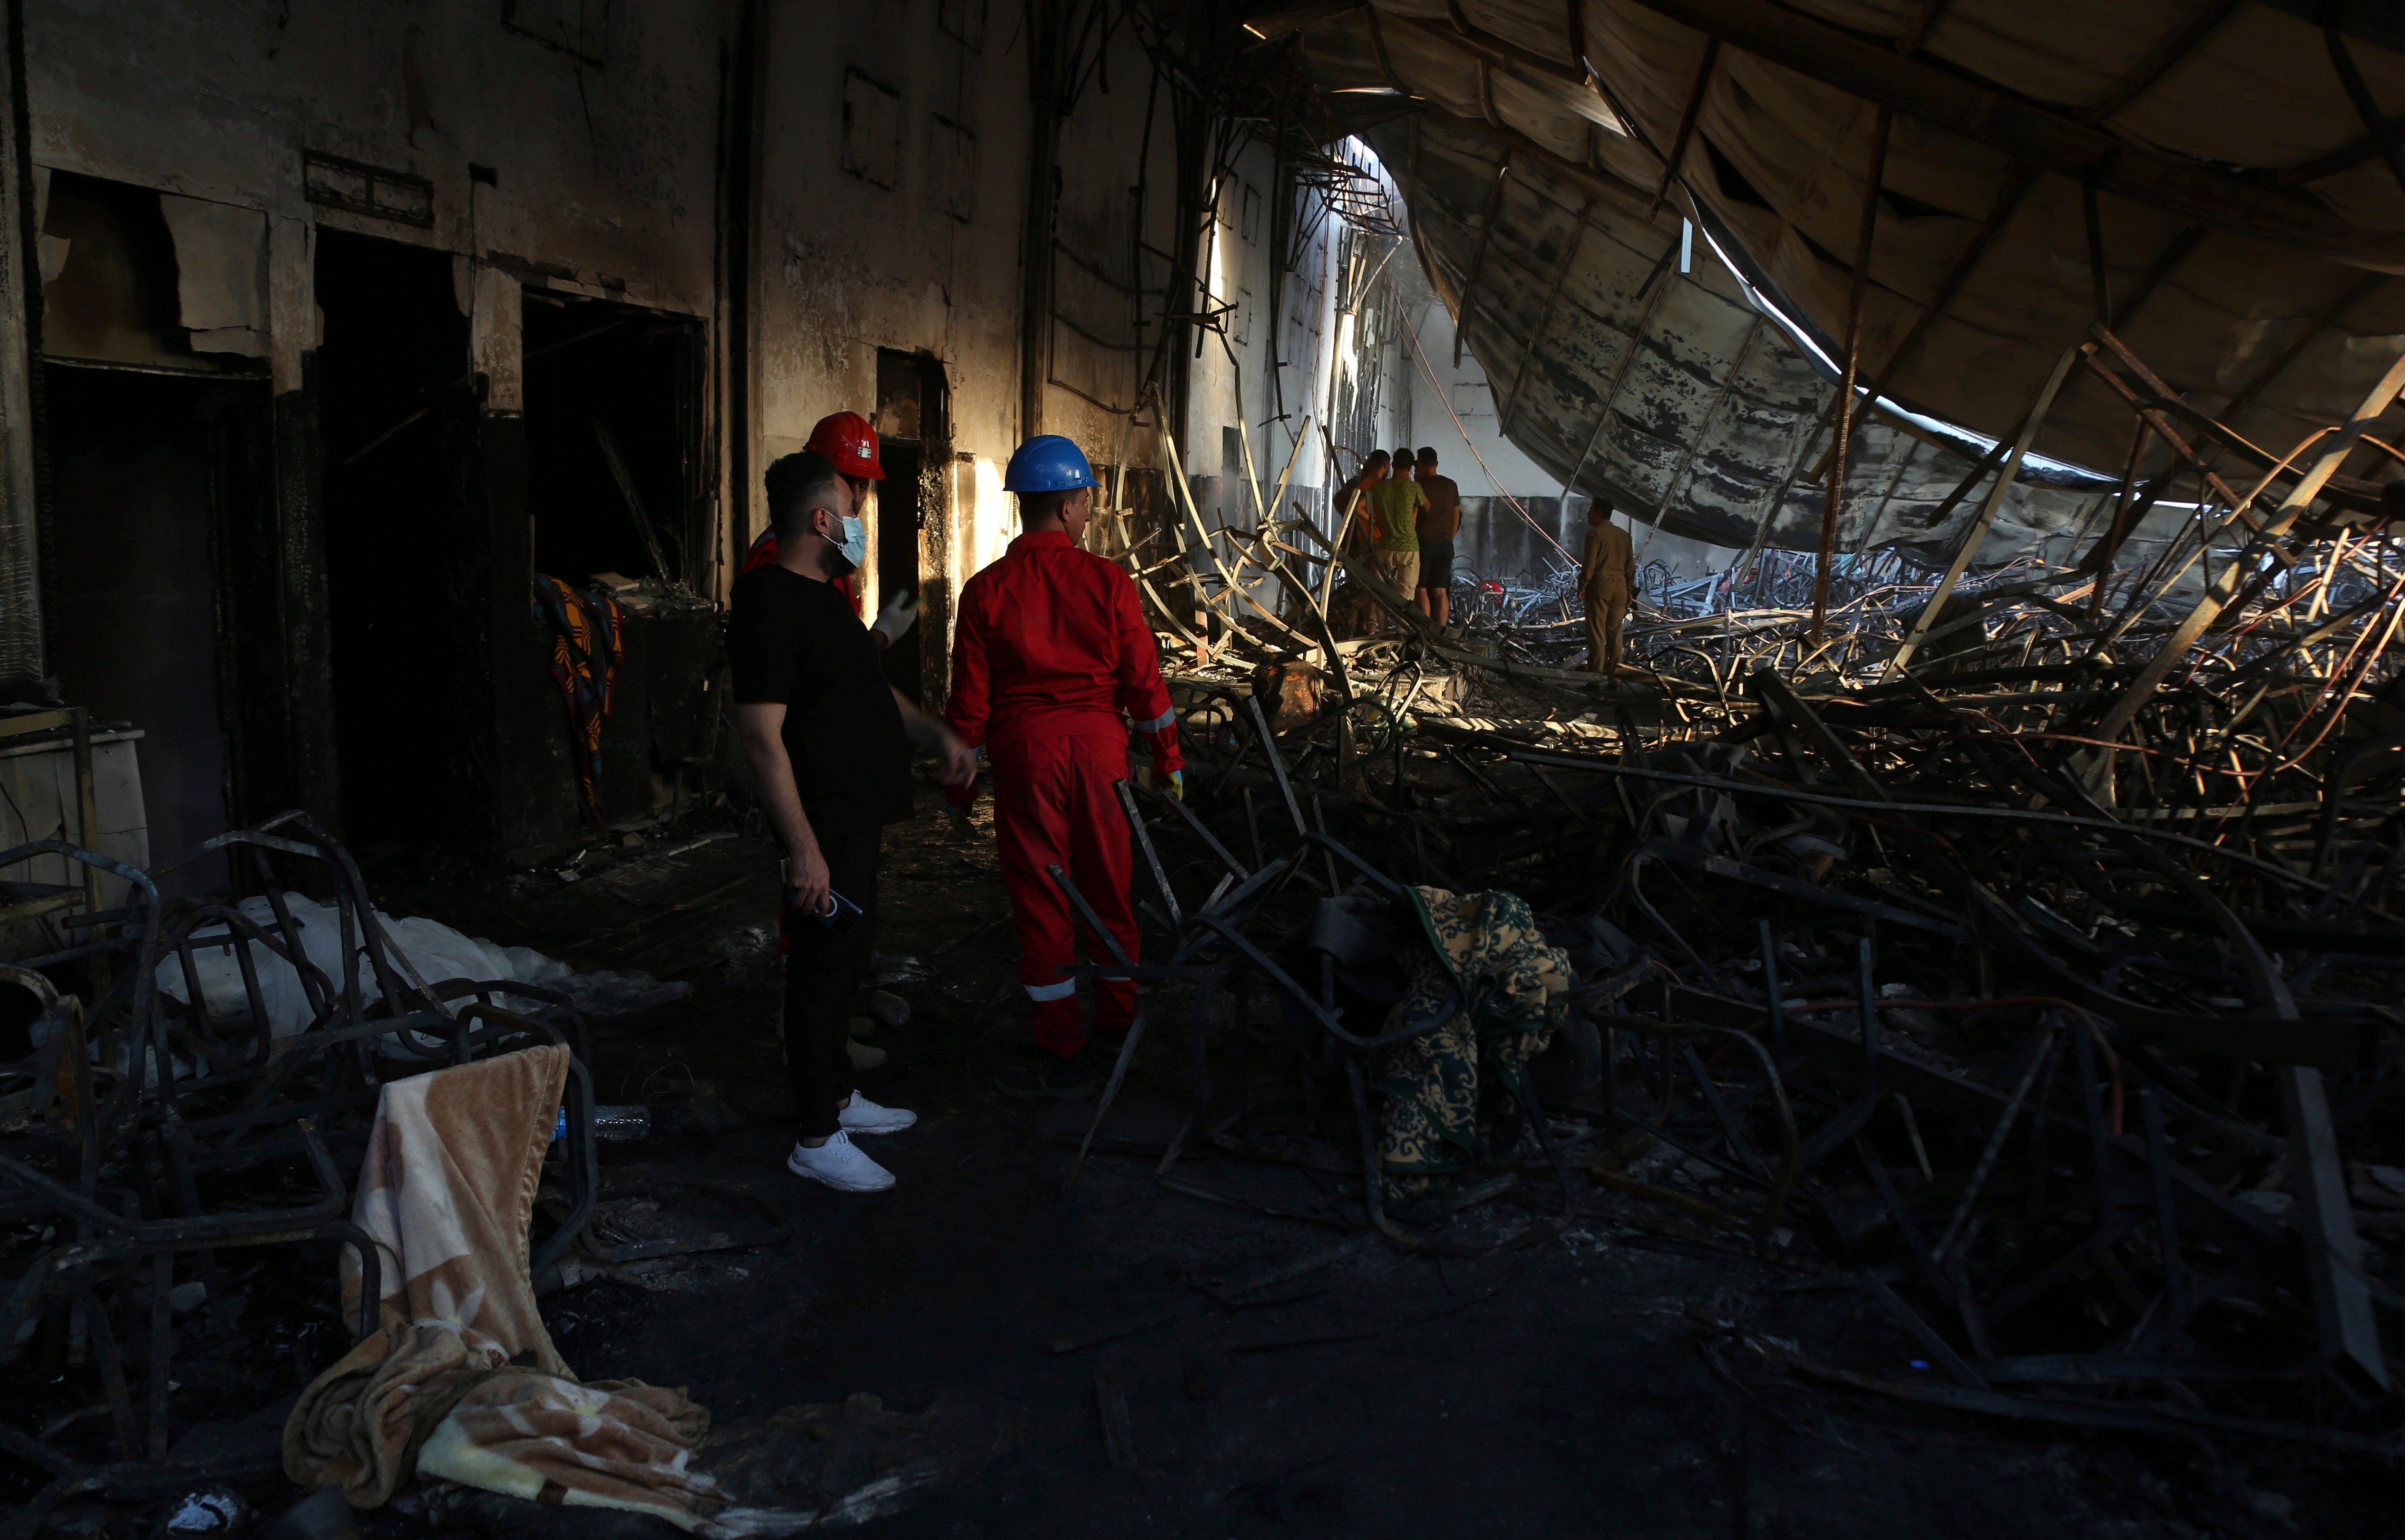
M 647 1103 L 654 1120 L 649 1139 L 604 1146 L 606 1172 L 741 1187 L 791 1228 L 782 1244 L 546 1293 L 577 1374 L 688 1386 L 721 1422 L 854 1391 L 907 1405 L 928 1386 L 1029 1413 L 1022 1451 L 875 1533 L 2374 1535 L 2393 1523 L 2393 1473 L 2354 1458 L 1994 1422 L 1782 1372 L 1765 1345 L 1876 1379 L 1931 1377 L 1926 1348 L 1801 1218 L 1758 1257 L 1667 1235 L 1611 1194 L 1558 1237 L 1484 1259 L 1364 1237 L 1342 1136 L 1306 1139 L 1291 1076 L 1267 1057 L 1263 1105 L 1227 1148 L 1183 1153 L 1178 1172 L 1282 1218 L 1174 1192 L 1154 1177 L 1186 1091 L 1169 1031 L 1063 1201 L 1092 1103 L 1027 1110 L 991 1091 L 1025 1033 L 991 831 L 960 836 L 928 810 L 890 831 L 887 862 L 880 949 L 897 959 L 887 987 L 909 1021 L 863 1038 L 890 1055 L 863 1088 L 924 1122 L 875 1146 L 899 1187 L 868 1199 L 782 1168 L 760 930 L 772 887 L 748 838 L 654 838 L 608 850 L 594 877 L 529 879 L 519 894 L 387 884 L 397 913 L 690 983 L 688 999 L 596 1026 L 599 1098 Z M 1164 995 L 1147 1009 L 1176 1007 Z M 1270 1033 L 1255 1035 L 1267 1050 Z M 1525 1225 L 1510 1199 L 1530 1184 L 1549 1184 L 1542 1160 L 1448 1235 Z M 301 1319 L 310 1309 L 322 1300 Z M 322 1331 L 315 1350 L 337 1336 Z M 255 1384 L 267 1365 L 298 1389 L 317 1367 L 310 1343 L 274 1348 L 240 1348 L 226 1367 Z M 250 1494 L 265 1506 L 279 1490 L 291 1492 L 269 1480 Z M 142 1514 L 70 1504 L 53 1523 L 142 1533 Z M 534 1533 L 529 1514 L 541 1509 L 510 1533 Z M 423 1497 L 361 1516 L 370 1535 L 469 1523 Z M 548 1533 L 606 1523 L 652 1526 L 587 1511 Z

